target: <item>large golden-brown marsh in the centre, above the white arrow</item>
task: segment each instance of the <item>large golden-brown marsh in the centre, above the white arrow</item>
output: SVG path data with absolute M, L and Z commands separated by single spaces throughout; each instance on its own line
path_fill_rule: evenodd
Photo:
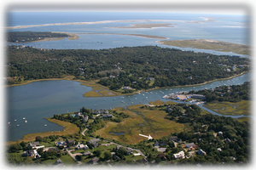
M 124 108 L 115 108 L 114 111 L 124 112 L 130 117 L 124 119 L 123 122 L 106 122 L 106 126 L 96 131 L 96 135 L 100 135 L 106 139 L 116 139 L 126 144 L 136 144 L 145 138 L 139 134 L 150 134 L 154 139 L 159 139 L 167 134 L 181 132 L 185 126 L 181 123 L 173 122 L 165 119 L 166 111 L 144 110 L 140 108 L 142 105 L 128 106 L 128 110 Z M 125 133 L 115 135 L 113 133 Z

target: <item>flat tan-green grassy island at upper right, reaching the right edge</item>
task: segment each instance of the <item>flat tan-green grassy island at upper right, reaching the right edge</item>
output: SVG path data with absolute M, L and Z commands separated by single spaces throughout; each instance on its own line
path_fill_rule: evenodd
M 248 45 L 220 42 L 216 40 L 208 39 L 190 39 L 190 40 L 168 40 L 158 41 L 161 44 L 172 45 L 181 48 L 200 48 L 200 49 L 212 49 L 214 51 L 232 52 L 235 54 L 251 54 L 251 47 Z

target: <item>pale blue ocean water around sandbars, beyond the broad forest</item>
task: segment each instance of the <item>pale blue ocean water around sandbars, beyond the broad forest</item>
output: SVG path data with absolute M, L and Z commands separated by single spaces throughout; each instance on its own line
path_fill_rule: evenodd
M 206 22 L 207 17 L 212 22 Z M 249 39 L 249 18 L 246 15 L 234 14 L 175 14 L 175 13 L 114 13 L 114 12 L 23 12 L 9 13 L 6 26 L 32 26 L 55 23 L 73 22 L 95 22 L 103 20 L 133 20 L 131 22 L 111 22 L 90 25 L 64 25 L 64 26 L 35 26 L 9 31 L 65 31 L 70 33 L 119 33 L 119 34 L 144 34 L 167 37 L 170 40 L 184 39 L 212 39 L 224 42 L 236 42 L 250 44 Z M 134 20 L 163 20 L 163 21 L 141 21 Z M 191 21 L 201 21 L 191 23 Z M 110 28 L 115 26 L 131 26 L 140 23 L 170 23 L 174 27 L 155 27 L 155 28 Z M 79 44 L 84 47 L 79 48 L 114 48 L 114 47 L 133 47 L 138 45 L 159 45 L 154 38 L 145 37 L 119 37 L 116 43 L 114 35 L 80 35 L 79 40 L 58 42 L 29 42 L 24 45 L 41 48 L 78 48 Z M 110 41 L 113 39 L 113 41 Z M 88 46 L 88 43 L 102 42 L 101 46 Z M 139 44 L 138 44 L 139 43 Z M 59 45 L 55 45 L 59 44 Z M 165 46 L 162 46 L 165 47 Z

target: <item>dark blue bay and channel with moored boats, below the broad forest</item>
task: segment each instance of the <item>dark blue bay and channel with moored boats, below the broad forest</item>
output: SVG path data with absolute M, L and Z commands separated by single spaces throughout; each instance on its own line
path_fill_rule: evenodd
M 252 72 L 229 80 L 210 82 L 204 85 L 189 87 L 158 88 L 141 94 L 125 96 L 85 98 L 83 94 L 90 91 L 90 87 L 80 85 L 80 82 L 53 80 L 32 82 L 22 86 L 6 88 L 6 130 L 7 140 L 22 139 L 27 133 L 46 131 L 61 131 L 63 127 L 48 122 L 44 117 L 79 111 L 85 108 L 110 109 L 126 107 L 127 105 L 147 105 L 149 101 L 162 100 L 166 94 L 175 92 L 216 88 L 221 85 L 237 85 L 252 78 Z M 200 105 L 201 106 L 201 105 Z M 204 108 L 201 106 L 201 108 Z M 217 114 L 211 111 L 212 114 Z M 239 116 L 232 116 L 237 118 Z M 25 123 L 25 120 L 27 121 Z M 8 122 L 10 124 L 8 125 Z M 44 126 L 47 124 L 47 126 Z M 19 125 L 19 126 L 17 126 Z

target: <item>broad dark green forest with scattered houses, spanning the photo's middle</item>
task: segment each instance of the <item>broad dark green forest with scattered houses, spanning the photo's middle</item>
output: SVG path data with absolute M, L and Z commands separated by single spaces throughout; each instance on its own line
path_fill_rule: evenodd
M 38 49 L 9 46 L 8 84 L 69 75 L 99 80 L 112 90 L 198 84 L 249 71 L 249 59 L 156 46 L 111 49 Z M 234 69 L 235 67 L 235 69 Z

